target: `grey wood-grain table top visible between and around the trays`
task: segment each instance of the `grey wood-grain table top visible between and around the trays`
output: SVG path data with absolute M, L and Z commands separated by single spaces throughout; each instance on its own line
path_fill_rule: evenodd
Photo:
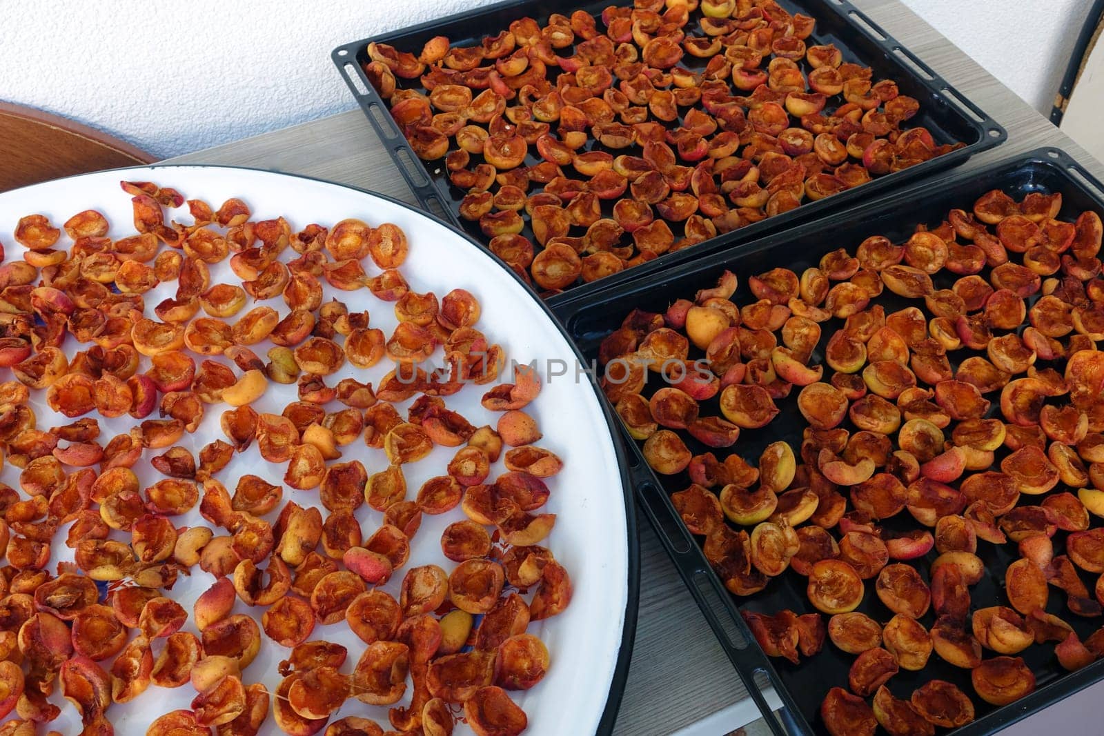
M 1063 148 L 1104 178 L 1104 166 L 898 0 L 852 0 L 885 32 L 1008 129 L 970 169 L 1040 146 Z M 337 74 L 337 72 L 335 72 Z M 362 113 L 352 110 L 170 159 L 306 174 L 389 194 L 413 195 Z M 669 734 L 746 698 L 746 692 L 641 516 L 640 611 L 615 733 Z M 731 724 L 732 728 L 742 725 Z

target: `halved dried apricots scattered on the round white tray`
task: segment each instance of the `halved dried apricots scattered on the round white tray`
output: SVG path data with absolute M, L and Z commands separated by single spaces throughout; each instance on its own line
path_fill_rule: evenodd
M 476 329 L 474 295 L 438 300 L 407 286 L 400 267 L 411 246 L 395 225 L 293 232 L 283 217 L 251 218 L 238 199 L 217 209 L 188 200 L 184 225 L 166 221 L 185 204 L 176 190 L 123 189 L 136 234 L 108 237 L 93 210 L 61 228 L 31 214 L 14 232 L 18 255 L 0 255 L 0 449 L 19 479 L 18 489 L 0 484 L 0 733 L 57 718 L 49 698 L 60 689 L 83 733 L 112 734 L 113 704 L 144 693 L 153 703 L 150 684 L 195 690 L 151 736 L 248 736 L 269 717 L 299 736 L 380 735 L 368 718 L 329 719 L 348 698 L 395 705 L 404 695 L 389 733 L 447 736 L 458 719 L 480 736 L 524 730 L 508 691 L 532 687 L 550 664 L 527 628 L 572 593 L 541 546 L 555 522 L 541 510 L 546 480 L 563 463 L 535 444 L 541 431 L 523 410 L 539 376 L 516 369 L 513 383 L 500 382 L 503 351 Z M 241 284 L 213 284 L 210 267 L 227 259 Z M 147 310 L 144 295 L 173 282 L 174 296 Z M 323 285 L 367 288 L 397 327 L 386 335 L 367 310 L 323 301 Z M 264 303 L 275 299 L 284 317 Z M 265 358 L 254 352 L 267 345 Z M 427 373 L 420 363 L 438 348 L 447 369 Z M 383 360 L 395 367 L 374 387 L 330 385 L 347 363 Z M 274 384 L 294 385 L 297 401 L 258 413 Z M 490 424 L 446 406 L 468 385 L 486 392 Z M 29 399 L 40 392 L 54 415 L 35 415 Z M 212 410 L 225 436 L 202 438 L 211 441 L 193 455 L 181 440 Z M 100 418 L 128 430 L 100 436 Z M 360 442 L 378 471 L 341 460 Z M 286 466 L 283 484 L 243 474 L 233 491 L 224 486 L 221 471 L 251 447 Z M 455 456 L 408 493 L 404 468 L 435 447 Z M 160 479 L 144 488 L 135 470 L 147 467 Z M 382 525 L 363 531 L 361 506 Z M 206 525 L 180 526 L 193 509 Z M 411 567 L 397 596 L 380 588 L 406 565 L 423 514 L 454 509 L 464 518 L 440 537 L 452 572 Z M 52 554 L 62 544 L 74 562 Z M 210 576 L 192 611 L 173 599 L 179 576 Z M 241 604 L 250 615 L 233 612 Z M 316 623 L 341 622 L 364 644 L 351 671 L 346 647 L 310 639 Z M 250 684 L 262 647 L 288 650 L 275 693 Z

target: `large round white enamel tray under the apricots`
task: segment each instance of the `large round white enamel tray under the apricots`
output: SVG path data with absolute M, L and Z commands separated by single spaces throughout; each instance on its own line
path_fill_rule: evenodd
M 539 422 L 544 434 L 539 446 L 556 452 L 564 460 L 564 469 L 549 479 L 551 499 L 546 510 L 558 514 L 552 534 L 542 544 L 550 547 L 556 559 L 571 575 L 574 597 L 567 609 L 545 621 L 533 622 L 529 632 L 538 634 L 548 646 L 551 668 L 548 675 L 535 687 L 523 692 L 511 692 L 514 701 L 524 708 L 529 717 L 529 736 L 551 736 L 560 734 L 590 734 L 598 728 L 607 698 L 619 698 L 619 687 L 624 684 L 624 672 L 615 676 L 618 654 L 622 649 L 623 631 L 626 630 L 626 610 L 635 615 L 635 601 L 629 596 L 629 543 L 626 524 L 625 490 L 618 467 L 617 452 L 611 439 L 609 426 L 598 403 L 594 388 L 585 375 L 575 371 L 576 354 L 560 332 L 552 318 L 534 298 L 486 252 L 459 235 L 456 231 L 438 223 L 402 204 L 388 199 L 337 184 L 304 179 L 299 177 L 222 167 L 152 167 L 107 171 L 44 184 L 24 188 L 0 194 L 0 242 L 3 243 L 7 259 L 20 258 L 22 247 L 15 244 L 12 233 L 18 220 L 26 214 L 41 213 L 50 217 L 56 227 L 73 214 L 95 209 L 104 213 L 112 230 L 113 238 L 134 234 L 130 195 L 119 188 L 120 180 L 149 180 L 161 186 L 172 186 L 189 199 L 202 199 L 213 209 L 231 196 L 244 200 L 253 212 L 254 220 L 283 215 L 297 232 L 309 223 L 331 226 L 346 217 L 358 217 L 378 225 L 391 222 L 406 233 L 410 242 L 410 257 L 400 269 L 411 288 L 417 292 L 434 291 L 444 296 L 453 288 L 464 288 L 476 295 L 482 312 L 476 328 L 487 334 L 490 342 L 497 342 L 506 350 L 507 366 L 511 359 L 528 363 L 535 359 L 544 376 L 540 396 L 527 407 Z M 192 222 L 187 205 L 177 210 L 166 210 L 166 221 Z M 68 238 L 62 234 L 57 247 L 68 247 Z M 295 257 L 290 248 L 282 256 L 287 260 Z M 365 258 L 365 270 L 375 275 L 375 268 Z M 211 282 L 240 284 L 229 265 L 223 262 L 211 267 Z M 338 291 L 323 282 L 325 300 L 331 296 L 344 301 L 350 311 L 368 309 L 371 327 L 390 335 L 396 324 L 393 305 L 375 299 L 368 289 Z M 152 317 L 152 308 L 161 299 L 173 296 L 176 284 L 162 285 L 145 295 L 146 313 Z M 280 314 L 288 310 L 283 299 L 266 302 Z M 252 308 L 253 303 L 246 306 Z M 244 312 L 244 310 L 243 310 Z M 235 318 L 232 318 L 235 319 Z M 340 341 L 340 339 L 339 339 Z M 67 338 L 64 351 L 73 355 L 79 345 Z M 254 345 L 254 351 L 264 356 L 270 345 L 265 342 Z M 438 349 L 435 359 L 440 362 Z M 199 364 L 200 359 L 193 356 Z M 225 358 L 221 362 L 232 366 Z M 549 380 L 545 366 L 553 361 L 553 369 L 569 366 L 566 375 Z M 338 380 L 355 376 L 360 381 L 378 382 L 390 370 L 386 360 L 369 371 L 346 365 L 338 374 L 327 378 L 327 385 Z M 142 367 L 148 359 L 142 359 Z M 232 366 L 233 367 L 233 366 Z M 238 373 L 234 367 L 235 373 Z M 10 371 L 0 370 L 0 380 L 11 378 Z M 512 381 L 509 367 L 502 380 Z M 448 408 L 459 412 L 476 426 L 493 424 L 497 415 L 485 410 L 479 398 L 489 386 L 468 386 L 458 394 L 447 397 Z M 32 392 L 31 404 L 38 416 L 40 428 L 66 424 L 72 419 L 53 414 L 45 405 L 45 392 Z M 288 403 L 296 401 L 296 387 L 272 384 L 265 395 L 254 404 L 257 412 L 279 413 Z M 405 417 L 411 402 L 397 406 Z M 225 405 L 208 405 L 200 428 L 193 435 L 184 435 L 180 444 L 198 455 L 199 449 L 223 437 L 219 425 Z M 327 406 L 328 410 L 343 408 L 338 402 Z M 156 412 L 155 412 L 156 415 Z M 92 416 L 92 415 L 89 415 Z M 116 434 L 127 431 L 136 420 L 129 416 L 117 419 L 97 417 L 103 428 L 100 442 Z M 383 450 L 368 448 L 361 439 L 342 448 L 341 460 L 359 459 L 369 473 L 388 466 Z M 163 450 L 146 450 L 142 460 L 135 467 L 145 488 L 161 478 L 148 466 L 149 459 Z M 434 449 L 433 454 L 413 465 L 404 466 L 407 481 L 407 498 L 413 499 L 421 484 L 433 476 L 444 474 L 445 465 L 455 448 Z M 501 460 L 491 468 L 490 478 L 505 471 Z M 236 455 L 229 467 L 217 473 L 233 493 L 241 474 L 254 473 L 273 483 L 282 483 L 284 465 L 269 463 L 257 454 L 256 446 Z M 18 487 L 19 469 L 4 467 L 0 480 L 13 488 Z M 294 500 L 300 505 L 317 505 L 318 491 L 297 491 L 285 487 L 284 500 Z M 544 509 L 542 509 L 544 511 Z M 322 511 L 325 515 L 325 510 Z M 275 521 L 277 511 L 266 519 Z M 422 526 L 412 541 L 411 559 L 383 588 L 399 596 L 399 586 L 406 569 L 415 565 L 434 563 L 445 570 L 455 564 L 440 553 L 440 533 L 446 525 L 463 518 L 457 508 L 438 516 L 424 515 Z M 382 523 L 382 514 L 367 505 L 357 511 L 364 537 L 368 538 Z M 199 514 L 198 508 L 183 516 L 173 518 L 177 526 L 209 525 Z M 72 550 L 64 540 L 68 525 L 61 529 L 53 545 L 51 565 L 59 559 L 72 559 Z M 217 532 L 216 532 L 217 533 Z M 129 534 L 113 532 L 113 537 L 129 542 Z M 635 537 L 633 537 L 635 538 Z M 634 551 L 633 555 L 636 554 Z M 169 594 L 189 611 L 185 630 L 198 633 L 191 621 L 195 598 L 214 582 L 214 578 L 195 566 L 192 576 L 181 575 Z M 235 614 L 252 614 L 259 623 L 263 609 L 245 606 L 241 601 Z M 631 627 L 628 628 L 631 631 Z M 290 650 L 270 641 L 262 634 L 262 648 L 256 660 L 243 673 L 246 683 L 262 682 L 269 692 L 275 692 L 280 682 L 277 664 L 286 659 Z M 325 639 L 343 644 L 349 658 L 342 668 L 351 672 L 365 644 L 360 641 L 344 622 L 317 626 L 310 639 Z M 628 642 L 630 646 L 631 642 Z M 160 652 L 163 640 L 153 643 L 155 658 Z M 100 663 L 108 669 L 110 661 Z M 408 681 L 407 681 L 408 682 Z M 614 692 L 612 692 L 612 686 Z M 410 702 L 412 687 L 397 705 Z M 161 689 L 150 685 L 141 696 L 127 704 L 113 704 L 107 711 L 115 725 L 116 734 L 144 734 L 148 725 L 159 715 L 176 708 L 188 708 L 195 695 L 190 684 L 177 689 Z M 51 698 L 62 707 L 61 717 L 50 724 L 65 734 L 81 730 L 81 721 L 72 704 L 60 693 Z M 375 719 L 384 729 L 390 728 L 388 708 L 370 706 L 350 698 L 333 714 L 331 721 L 347 715 L 358 715 Z M 12 713 L 14 716 L 14 712 Z M 269 711 L 262 733 L 276 734 L 279 729 Z M 465 724 L 457 724 L 457 734 L 470 734 Z

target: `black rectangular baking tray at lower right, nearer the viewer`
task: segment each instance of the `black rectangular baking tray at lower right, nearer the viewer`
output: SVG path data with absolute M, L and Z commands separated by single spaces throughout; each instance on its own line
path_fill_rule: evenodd
M 670 302 L 678 298 L 693 298 L 701 288 L 716 284 L 722 270 L 729 269 L 737 275 L 740 288 L 734 298 L 749 298 L 746 279 L 774 267 L 790 268 L 798 274 L 808 266 L 816 265 L 821 255 L 838 247 L 853 249 L 866 237 L 885 235 L 895 243 L 903 242 L 914 232 L 917 224 L 937 225 L 954 207 L 973 209 L 974 202 L 985 192 L 1000 189 L 1010 195 L 1021 199 L 1029 192 L 1061 192 L 1063 206 L 1060 217 L 1072 220 L 1085 210 L 1104 213 L 1104 184 L 1076 164 L 1066 153 L 1057 149 L 1040 149 L 1011 160 L 1007 160 L 979 171 L 948 177 L 938 186 L 916 186 L 901 191 L 879 202 L 856 207 L 832 217 L 825 217 L 815 223 L 808 223 L 785 233 L 756 241 L 734 252 L 718 253 L 696 263 L 682 264 L 665 271 L 659 278 L 638 279 L 616 289 L 608 289 L 593 297 L 575 297 L 562 301 L 553 308 L 553 312 L 563 321 L 567 334 L 580 346 L 588 361 L 595 361 L 602 339 L 620 326 L 623 318 L 634 308 L 647 311 L 664 311 Z M 987 271 L 984 271 L 985 274 Z M 938 277 L 936 278 L 940 286 Z M 878 298 L 887 310 L 899 309 L 905 300 L 889 295 L 885 291 Z M 899 300 L 898 305 L 893 300 Z M 747 301 L 744 301 L 747 303 Z M 825 326 L 824 337 L 828 337 L 841 327 L 841 320 L 831 320 Z M 824 343 L 814 353 L 818 362 L 822 362 Z M 964 351 L 970 354 L 972 351 Z M 956 355 L 958 360 L 964 355 Z M 656 382 L 649 382 L 646 391 L 654 391 Z M 737 441 L 736 451 L 750 461 L 758 458 L 763 447 L 776 440 L 788 441 L 795 450 L 800 444 L 800 422 L 787 420 L 797 416 L 793 392 L 789 398 L 778 401 L 782 409 L 779 416 L 769 425 L 758 430 L 745 430 Z M 995 399 L 994 395 L 988 396 Z M 715 399 L 714 402 L 715 403 Z M 999 402 L 994 401 L 994 404 Z M 999 416 L 999 408 L 994 407 Z M 703 414 L 718 414 L 715 406 L 703 410 Z M 630 472 L 636 479 L 636 493 L 640 506 L 655 524 L 668 553 L 679 568 L 691 594 L 697 599 L 707 620 L 713 628 L 722 647 L 732 660 L 739 675 L 747 690 L 756 694 L 756 678 L 765 676 L 774 686 L 782 703 L 783 711 L 778 719 L 767 715 L 767 723 L 778 736 L 783 734 L 825 734 L 818 708 L 829 686 L 847 685 L 847 674 L 853 657 L 842 653 L 830 642 L 824 650 L 811 658 L 802 658 L 799 665 L 793 665 L 782 659 L 767 659 L 754 642 L 747 627 L 740 616 L 740 610 L 776 612 L 790 608 L 798 612 L 814 610 L 806 598 L 806 578 L 793 570 L 775 578 L 765 590 L 746 598 L 730 595 L 721 584 L 693 537 L 682 524 L 678 513 L 668 498 L 670 493 L 682 490 L 690 481 L 686 472 L 677 476 L 660 477 L 651 472 L 644 462 L 639 444 L 624 433 L 626 441 L 636 448 L 630 451 Z M 680 433 L 694 454 L 709 450 L 696 444 L 684 433 Z M 719 458 L 726 454 L 716 451 Z M 1036 497 L 1031 497 L 1036 498 Z M 1025 497 L 1021 503 L 1030 503 Z M 901 520 L 901 516 L 895 518 Z M 894 519 L 885 520 L 884 525 L 892 529 Z M 1093 526 L 1104 525 L 1104 521 L 1093 518 Z M 1064 546 L 1064 533 L 1054 537 L 1055 554 L 1061 554 Z M 1001 545 L 983 543 L 979 555 L 986 563 L 986 577 L 973 588 L 975 604 L 1007 605 L 1004 594 L 1004 574 L 1007 565 L 1015 559 L 1008 548 Z M 916 561 L 917 568 L 925 579 L 934 552 L 926 558 Z M 1082 574 L 1089 589 L 1093 589 L 1095 578 Z M 1060 615 L 1070 622 L 1084 639 L 1104 625 L 1104 618 L 1083 619 L 1065 610 L 1065 596 L 1057 589 L 1052 590 L 1048 611 Z M 867 595 L 859 610 L 884 622 L 891 614 L 872 593 L 872 586 L 867 587 Z M 921 621 L 925 628 L 931 628 L 934 615 L 930 611 Z M 964 692 L 972 695 L 977 708 L 977 719 L 954 732 L 955 736 L 978 736 L 992 734 L 1025 716 L 1054 704 L 1061 698 L 1104 679 L 1104 660 L 1100 660 L 1076 672 L 1065 672 L 1053 654 L 1054 644 L 1032 646 L 1020 655 L 1036 673 L 1037 690 L 1005 707 L 987 705 L 974 695 L 966 670 L 954 668 L 943 662 L 938 655 L 932 654 L 928 665 L 919 673 L 904 672 L 890 680 L 888 686 L 899 697 L 909 694 L 932 678 L 948 680 L 959 685 Z M 986 657 L 994 655 L 988 650 Z M 758 703 L 758 701 L 756 701 Z M 761 708 L 763 707 L 760 703 Z M 764 714 L 768 714 L 764 711 Z M 1087 733 L 1087 732 L 1086 732 Z

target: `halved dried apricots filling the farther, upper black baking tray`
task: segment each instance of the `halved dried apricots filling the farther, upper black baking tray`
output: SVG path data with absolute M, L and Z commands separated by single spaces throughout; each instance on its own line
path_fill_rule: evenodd
M 475 46 L 371 43 L 364 72 L 444 157 L 459 215 L 551 295 L 960 146 L 904 129 L 920 103 L 815 25 L 774 0 L 636 0 Z

